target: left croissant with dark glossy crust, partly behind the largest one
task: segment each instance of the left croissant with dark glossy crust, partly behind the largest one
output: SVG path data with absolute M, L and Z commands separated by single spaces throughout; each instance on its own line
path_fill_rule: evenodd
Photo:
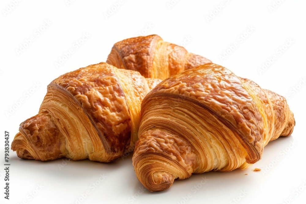
M 66 73 L 48 85 L 39 113 L 20 124 L 12 150 L 41 161 L 113 161 L 133 150 L 140 104 L 160 81 L 106 63 Z

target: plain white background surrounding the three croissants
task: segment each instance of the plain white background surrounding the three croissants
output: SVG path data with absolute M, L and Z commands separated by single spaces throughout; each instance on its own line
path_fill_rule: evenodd
M 108 17 L 105 13 L 118 5 L 118 0 L 13 2 L 0 3 L 0 203 L 70 204 L 78 203 L 79 198 L 80 203 L 185 203 L 188 193 L 191 196 L 186 203 L 305 203 L 305 1 L 173 0 L 171 4 L 170 0 L 127 0 Z M 223 7 L 219 7 L 221 3 Z M 49 25 L 41 28 L 45 21 Z M 41 29 L 39 35 L 37 29 Z M 74 44 L 84 33 L 90 36 L 76 49 Z M 19 124 L 38 112 L 53 79 L 106 61 L 113 44 L 122 39 L 149 34 L 183 45 L 189 52 L 285 96 L 296 120 L 293 134 L 269 143 L 262 160 L 246 170 L 192 175 L 174 181 L 163 192 L 141 190 L 132 154 L 111 163 L 65 163 L 62 159 L 22 160 L 10 150 L 10 199 L 4 199 L 4 131 L 9 131 L 11 143 Z M 19 53 L 32 36 L 34 40 Z M 234 43 L 235 49 L 228 50 Z M 279 48 L 283 46 L 282 52 Z M 73 54 L 56 67 L 70 49 Z M 263 64 L 269 66 L 259 72 Z M 31 95 L 27 91 L 32 91 Z M 16 108 L 21 99 L 24 102 Z M 13 113 L 7 114 L 13 107 Z M 253 172 L 254 168 L 262 171 Z M 100 174 L 105 177 L 102 182 L 98 182 Z M 202 178 L 207 179 L 204 185 Z M 96 187 L 92 185 L 95 182 L 99 184 Z M 86 191 L 89 195 L 83 199 Z

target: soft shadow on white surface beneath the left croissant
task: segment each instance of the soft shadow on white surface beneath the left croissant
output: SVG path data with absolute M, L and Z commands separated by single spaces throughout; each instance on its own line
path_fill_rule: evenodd
M 78 184 L 78 187 L 82 187 L 80 184 L 85 184 L 88 187 L 88 182 L 90 182 L 89 184 L 95 182 L 101 175 L 106 178 L 107 182 L 114 183 L 112 181 L 114 178 L 112 177 L 115 177 L 116 180 L 119 177 L 118 172 L 120 172 L 120 177 L 127 177 L 127 173 L 132 172 L 131 159 L 132 155 L 128 156 L 124 161 L 118 159 L 104 163 L 88 159 L 75 161 L 66 158 L 50 161 L 24 160 L 13 156 L 10 158 L 10 161 L 15 161 L 16 173 L 20 176 L 24 176 L 24 172 L 33 172 L 34 180 L 37 182 L 48 184 L 48 186 L 49 184 L 58 183 L 61 184 L 61 187 L 65 188 L 65 185 L 62 184 Z M 126 171 L 127 166 L 130 167 L 130 171 Z M 26 176 L 26 179 L 32 181 L 31 176 Z M 107 186 L 107 182 L 101 182 L 101 186 Z M 119 180 L 119 182 L 122 183 L 123 180 Z M 116 184 L 117 188 L 112 190 L 117 191 L 118 185 L 119 183 Z M 109 189 L 109 186 L 107 188 Z

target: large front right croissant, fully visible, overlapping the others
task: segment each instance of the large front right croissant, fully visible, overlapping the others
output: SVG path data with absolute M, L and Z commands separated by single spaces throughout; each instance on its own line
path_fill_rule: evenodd
M 284 97 L 220 65 L 200 65 L 146 95 L 132 162 L 144 187 L 163 191 L 192 173 L 247 168 L 294 125 Z

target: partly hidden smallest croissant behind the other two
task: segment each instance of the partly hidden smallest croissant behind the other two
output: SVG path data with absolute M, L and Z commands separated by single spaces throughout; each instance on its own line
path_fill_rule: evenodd
M 167 43 L 158 35 L 148 35 L 115 43 L 106 62 L 117 68 L 138 71 L 146 78 L 164 80 L 211 61 L 188 53 L 182 46 Z

